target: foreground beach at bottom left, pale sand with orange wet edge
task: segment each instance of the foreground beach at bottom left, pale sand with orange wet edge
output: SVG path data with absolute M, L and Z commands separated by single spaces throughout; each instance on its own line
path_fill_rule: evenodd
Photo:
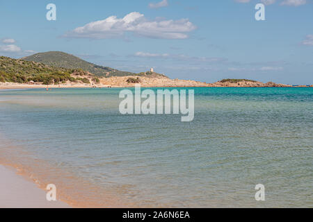
M 118 189 L 101 187 L 30 155 L 0 132 L 0 208 L 129 208 L 138 206 Z M 2 144 L 1 144 L 2 145 Z M 14 147 L 14 151 L 12 149 Z M 25 158 L 26 157 L 26 158 Z M 35 164 L 33 164 L 35 163 Z M 38 170 L 39 169 L 39 170 Z M 66 180 L 64 180 L 66 179 Z M 46 187 L 56 185 L 58 201 L 47 201 Z M 96 196 L 93 194 L 97 194 Z

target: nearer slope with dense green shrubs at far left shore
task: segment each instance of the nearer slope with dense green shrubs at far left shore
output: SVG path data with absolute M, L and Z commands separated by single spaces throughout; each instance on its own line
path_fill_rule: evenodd
M 71 76 L 72 75 L 72 76 Z M 42 83 L 44 85 L 70 82 L 90 83 L 90 77 L 96 82 L 96 76 L 82 69 L 50 67 L 41 62 L 29 62 L 0 56 L 0 82 L 9 83 Z

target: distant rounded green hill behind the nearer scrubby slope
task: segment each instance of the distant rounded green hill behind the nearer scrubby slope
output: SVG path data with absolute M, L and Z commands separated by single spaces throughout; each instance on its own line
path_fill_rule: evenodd
M 132 76 L 134 73 L 128 71 L 119 71 L 110 67 L 102 67 L 91 62 L 86 62 L 77 56 L 63 53 L 61 51 L 49 51 L 45 53 L 36 53 L 33 56 L 26 56 L 23 60 L 41 62 L 50 67 L 63 67 L 67 69 L 83 69 L 96 76 Z

